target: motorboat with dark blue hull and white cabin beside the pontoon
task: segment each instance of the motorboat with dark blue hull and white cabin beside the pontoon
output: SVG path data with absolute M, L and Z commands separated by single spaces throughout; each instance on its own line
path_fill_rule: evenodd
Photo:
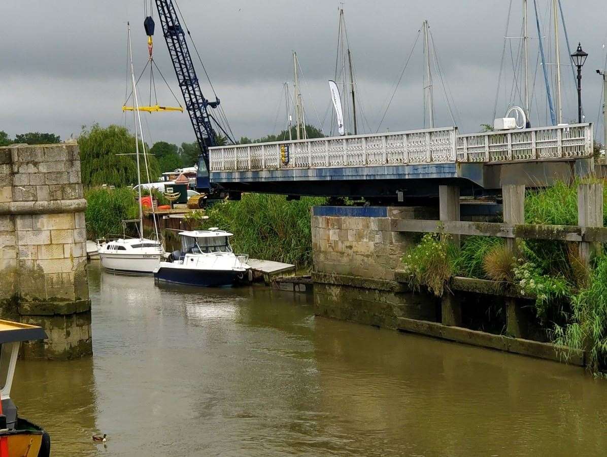
M 231 286 L 248 276 L 248 256 L 232 252 L 231 233 L 212 227 L 178 235 L 181 250 L 172 252 L 168 262 L 160 262 L 154 271 L 155 280 L 191 286 Z

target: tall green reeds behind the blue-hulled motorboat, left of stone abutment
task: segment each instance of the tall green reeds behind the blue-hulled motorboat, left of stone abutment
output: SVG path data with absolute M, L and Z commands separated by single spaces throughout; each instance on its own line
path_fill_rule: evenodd
M 283 195 L 243 194 L 240 201 L 211 206 L 206 211 L 209 219 L 199 225 L 233 233 L 235 252 L 308 268 L 312 264 L 310 207 L 323 203 L 324 198 L 287 201 Z

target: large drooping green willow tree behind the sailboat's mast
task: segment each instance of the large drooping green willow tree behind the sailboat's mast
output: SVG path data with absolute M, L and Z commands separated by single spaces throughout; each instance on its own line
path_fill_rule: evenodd
M 110 125 L 100 127 L 93 124 L 90 129 L 83 128 L 78 137 L 82 182 L 85 186 L 110 184 L 117 187 L 137 184 L 137 163 L 135 157 L 135 137 L 125 127 Z M 139 142 L 139 150 L 143 151 Z M 146 146 L 147 149 L 147 146 Z M 131 154 L 131 155 L 121 155 Z M 140 156 L 141 182 L 148 182 L 148 175 Z M 148 155 L 149 178 L 158 180 L 160 165 L 158 160 Z

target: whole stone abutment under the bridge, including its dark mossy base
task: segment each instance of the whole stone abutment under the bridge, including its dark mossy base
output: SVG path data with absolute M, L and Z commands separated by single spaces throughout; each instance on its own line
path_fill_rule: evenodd
M 399 317 L 436 320 L 436 297 L 394 279 L 415 235 L 393 232 L 392 220 L 438 219 L 438 208 L 317 206 L 312 209 L 314 313 L 396 328 Z

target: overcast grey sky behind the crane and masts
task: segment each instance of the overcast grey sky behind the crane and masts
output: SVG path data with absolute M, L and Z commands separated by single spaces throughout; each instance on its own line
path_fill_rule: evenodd
M 537 0 L 543 22 L 548 0 Z M 562 0 L 572 46 L 582 42 L 589 53 L 584 67 L 586 120 L 596 122 L 602 80 L 595 69 L 605 63 L 607 8 L 604 0 Z M 293 79 L 291 51 L 296 50 L 304 72 L 302 95 L 307 121 L 317 124 L 330 103 L 327 80 L 334 75 L 337 42 L 337 7 L 333 0 L 180 0 L 222 105 L 237 138 L 278 132 L 285 115 L 279 113 L 283 81 Z M 348 37 L 358 75 L 359 95 L 373 131 L 387 98 L 404 66 L 422 20 L 428 19 L 456 106 L 462 131 L 478 131 L 493 116 L 500 71 L 504 27 L 509 1 L 394 1 L 345 0 Z M 520 34 L 522 0 L 514 0 L 510 35 Z M 533 2 L 530 0 L 529 13 Z M 154 14 L 157 18 L 157 13 Z M 146 63 L 143 0 L 2 0 L 0 17 L 0 130 L 10 135 L 40 130 L 62 138 L 78 134 L 83 124 L 123 123 L 121 106 L 126 87 L 126 22 L 131 21 L 135 71 Z M 529 35 L 537 36 L 535 16 Z M 178 91 L 166 44 L 157 21 L 154 56 Z M 548 36 L 548 23 L 542 24 Z M 518 30 L 517 30 L 518 29 Z M 561 38 L 562 38 L 561 32 Z M 562 41 L 563 56 L 566 56 Z M 516 52 L 518 42 L 513 42 Z M 546 44 L 548 46 L 548 44 Z M 531 79 L 536 80 L 535 125 L 545 124 L 545 90 L 541 67 L 536 65 L 537 39 L 530 44 Z M 421 41 L 407 67 L 401 86 L 381 130 L 421 128 Z M 196 64 L 196 63 L 195 63 Z M 552 67 L 554 69 L 554 67 Z M 207 97 L 212 92 L 197 70 Z M 503 115 L 512 86 L 508 48 L 497 115 Z M 541 83 L 541 84 L 540 84 Z M 570 67 L 563 67 L 565 120 L 577 117 Z M 157 83 L 159 89 L 161 85 Z M 504 89 L 506 87 L 506 89 Z M 142 83 L 141 92 L 149 89 Z M 504 90 L 506 96 L 504 96 Z M 443 89 L 435 75 L 437 126 L 451 125 Z M 168 92 L 159 92 L 169 104 Z M 538 119 L 537 113 L 540 113 Z M 186 113 L 148 116 L 152 140 L 193 141 Z M 130 126 L 131 119 L 129 118 Z M 366 127 L 366 124 L 365 124 Z M 597 126 L 599 132 L 602 125 Z M 325 132 L 330 130 L 328 118 Z M 367 130 L 367 129 L 365 129 Z M 602 134 L 599 134 L 602 138 Z M 148 139 L 149 141 L 149 139 Z

